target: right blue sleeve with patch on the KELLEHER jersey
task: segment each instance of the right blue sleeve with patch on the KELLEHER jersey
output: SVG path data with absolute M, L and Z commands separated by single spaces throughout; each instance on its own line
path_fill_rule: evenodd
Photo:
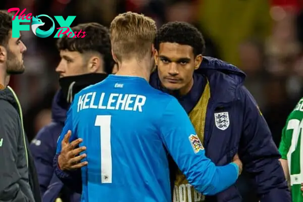
M 234 163 L 215 166 L 195 133 L 188 115 L 175 98 L 159 120 L 161 138 L 170 155 L 196 190 L 214 195 L 234 184 L 238 166 Z

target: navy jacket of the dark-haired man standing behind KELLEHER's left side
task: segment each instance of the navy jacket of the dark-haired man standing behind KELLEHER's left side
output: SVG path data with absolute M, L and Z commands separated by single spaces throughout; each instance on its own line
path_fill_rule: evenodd
M 43 127 L 32 140 L 30 149 L 38 172 L 43 202 L 53 202 L 63 194 L 71 202 L 80 201 L 80 194 L 69 190 L 54 173 L 53 159 L 56 155 L 57 139 L 63 129 L 68 105 L 58 91 L 52 105 L 52 123 Z

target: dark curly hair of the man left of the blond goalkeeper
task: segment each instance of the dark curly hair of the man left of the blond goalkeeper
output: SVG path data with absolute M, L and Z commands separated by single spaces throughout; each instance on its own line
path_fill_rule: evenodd
M 77 51 L 81 54 L 86 52 L 97 52 L 103 56 L 105 72 L 111 74 L 115 65 L 112 57 L 112 47 L 109 29 L 98 23 L 84 23 L 71 28 L 73 32 L 85 31 L 85 37 L 72 38 L 67 34 L 57 41 L 59 51 Z

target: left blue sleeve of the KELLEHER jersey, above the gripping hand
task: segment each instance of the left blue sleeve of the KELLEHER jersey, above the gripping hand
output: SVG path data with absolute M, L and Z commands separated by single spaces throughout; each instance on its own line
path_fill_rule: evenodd
M 74 141 L 75 139 L 77 139 L 77 134 L 75 133 L 74 130 L 74 124 L 73 124 L 73 106 L 74 106 L 74 102 L 72 102 L 68 112 L 67 112 L 67 118 L 65 120 L 65 125 L 61 131 L 61 134 L 57 140 L 57 154 L 59 154 L 61 152 L 61 141 L 63 140 L 65 134 L 68 132 L 68 130 L 72 131 L 72 135 L 70 137 L 70 142 Z

